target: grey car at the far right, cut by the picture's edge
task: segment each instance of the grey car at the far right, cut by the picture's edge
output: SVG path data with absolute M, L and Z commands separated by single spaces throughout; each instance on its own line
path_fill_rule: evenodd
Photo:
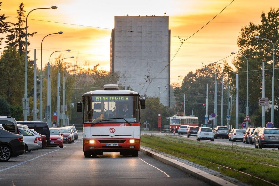
M 279 129 L 261 128 L 255 137 L 255 148 L 279 148 Z

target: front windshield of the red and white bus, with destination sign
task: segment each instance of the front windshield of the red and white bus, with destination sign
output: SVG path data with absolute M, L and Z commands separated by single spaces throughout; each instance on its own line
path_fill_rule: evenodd
M 139 122 L 138 96 L 84 96 L 84 122 L 118 123 Z M 120 119 L 114 119 L 120 118 Z M 110 119 L 109 121 L 106 119 Z

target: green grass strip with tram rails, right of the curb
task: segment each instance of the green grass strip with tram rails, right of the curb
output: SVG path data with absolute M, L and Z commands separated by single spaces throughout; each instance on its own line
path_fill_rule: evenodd
M 228 146 L 154 135 L 141 136 L 141 145 L 187 159 L 250 185 L 267 185 L 267 182 L 255 177 L 279 184 L 278 151 L 239 147 L 237 143 Z

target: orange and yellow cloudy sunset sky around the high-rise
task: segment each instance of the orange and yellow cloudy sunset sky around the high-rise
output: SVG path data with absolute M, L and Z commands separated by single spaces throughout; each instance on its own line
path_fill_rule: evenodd
M 104 70 L 110 65 L 110 35 L 114 28 L 114 16 L 169 16 L 171 30 L 171 83 L 181 83 L 182 77 L 195 71 L 204 64 L 219 61 L 223 58 L 231 64 L 237 52 L 237 37 L 241 27 L 260 23 L 262 11 L 268 13 L 270 7 L 279 8 L 277 0 L 0 0 L 0 14 L 5 14 L 10 22 L 17 21 L 17 9 L 23 2 L 25 16 L 36 8 L 57 6 L 58 9 L 39 9 L 28 16 L 28 33 L 37 34 L 28 38 L 31 45 L 31 59 L 34 60 L 34 49 L 37 49 L 37 64 L 41 68 L 41 42 L 43 41 L 43 68 L 49 61 L 50 54 L 56 50 L 70 49 L 63 52 L 64 62 L 81 67 L 93 67 L 96 64 Z M 231 3 L 232 2 L 232 3 Z M 231 3 L 231 4 L 230 4 Z M 229 5 L 230 4 L 230 5 Z M 225 10 L 223 10 L 229 5 Z M 222 11 L 223 10 L 223 11 Z M 213 17 L 222 11 L 213 21 L 193 35 Z M 26 18 L 26 17 L 25 17 Z M 25 26 L 25 25 L 24 25 Z M 181 43 L 178 37 L 187 39 Z M 2 43 L 2 45 L 5 43 Z M 1 47 L 3 48 L 3 47 Z M 178 51 L 178 52 L 177 52 Z M 175 53 L 177 55 L 174 57 Z M 52 54 L 53 62 L 61 52 Z M 174 58 L 173 58 L 174 57 Z M 226 58 L 227 57 L 227 58 Z M 222 61 L 219 61 L 222 62 Z

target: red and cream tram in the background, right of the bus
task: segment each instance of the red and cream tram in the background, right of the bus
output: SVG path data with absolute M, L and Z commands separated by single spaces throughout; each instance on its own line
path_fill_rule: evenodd
M 183 116 L 175 115 L 169 117 L 169 127 L 175 128 L 175 131 L 178 132 L 180 125 L 189 125 L 189 126 L 199 126 L 199 118 L 195 116 Z

